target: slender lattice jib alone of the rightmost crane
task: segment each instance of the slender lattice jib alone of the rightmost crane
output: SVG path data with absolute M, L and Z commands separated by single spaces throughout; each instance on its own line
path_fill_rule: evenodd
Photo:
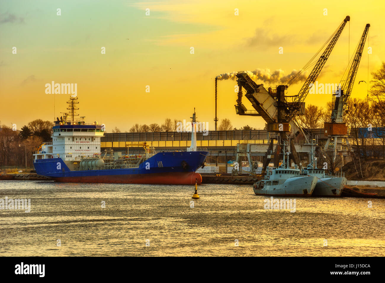
M 343 95 L 342 113 L 346 109 L 346 106 L 348 104 L 348 100 L 350 97 L 350 93 L 352 92 L 352 89 L 353 89 L 354 80 L 355 80 L 356 75 L 357 75 L 358 65 L 360 65 L 363 47 L 365 46 L 365 41 L 366 41 L 366 38 L 368 36 L 369 27 L 370 27 L 370 24 L 367 24 L 365 27 L 365 30 L 362 33 L 362 37 L 361 37 L 360 43 L 358 44 L 357 52 L 354 56 L 352 66 L 350 67 L 349 74 L 346 77 L 345 83 L 343 84 L 343 87 L 342 87 L 343 94 L 344 94 Z

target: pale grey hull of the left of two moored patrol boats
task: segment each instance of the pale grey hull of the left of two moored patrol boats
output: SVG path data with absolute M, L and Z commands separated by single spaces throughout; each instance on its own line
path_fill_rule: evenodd
M 253 188 L 257 196 L 311 196 L 317 184 L 315 176 L 294 177 L 278 185 Z

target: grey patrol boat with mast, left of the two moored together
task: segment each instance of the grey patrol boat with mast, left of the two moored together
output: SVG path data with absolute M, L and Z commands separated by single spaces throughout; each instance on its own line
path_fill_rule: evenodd
M 263 179 L 254 183 L 254 193 L 267 196 L 311 196 L 317 184 L 316 176 L 301 176 L 298 165 L 289 167 L 289 154 L 285 162 L 285 145 L 283 144 L 283 162 L 278 168 L 266 168 Z

